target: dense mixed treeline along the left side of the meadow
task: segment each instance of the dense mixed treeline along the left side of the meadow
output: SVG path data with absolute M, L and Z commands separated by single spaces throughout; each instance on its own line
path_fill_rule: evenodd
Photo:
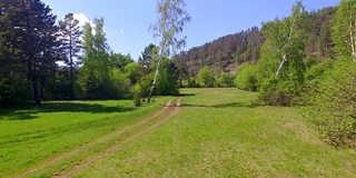
M 72 13 L 56 22 L 40 0 L 0 2 L 1 105 L 148 95 L 157 47 L 147 47 L 135 62 L 130 55 L 110 50 L 102 18 L 96 18 L 93 27 L 79 27 Z M 176 66 L 169 59 L 159 60 L 156 95 L 177 93 Z

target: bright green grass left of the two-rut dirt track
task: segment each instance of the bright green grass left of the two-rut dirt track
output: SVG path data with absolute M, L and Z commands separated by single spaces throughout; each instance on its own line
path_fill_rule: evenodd
M 131 100 L 47 102 L 41 107 L 0 110 L 0 177 L 19 174 L 106 134 L 139 121 L 171 97 L 141 108 Z M 105 142 L 82 157 L 110 145 Z M 80 160 L 80 157 L 78 158 Z M 75 159 L 61 162 L 71 165 Z M 60 167 L 59 167 L 60 168 Z

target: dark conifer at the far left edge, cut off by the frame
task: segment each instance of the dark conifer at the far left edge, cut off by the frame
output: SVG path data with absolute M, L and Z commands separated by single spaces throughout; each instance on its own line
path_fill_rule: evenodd
M 24 34 L 19 26 L 19 6 L 0 1 L 0 103 L 28 101 L 31 97 L 27 66 L 23 61 Z M 16 20 L 18 19 L 18 20 Z

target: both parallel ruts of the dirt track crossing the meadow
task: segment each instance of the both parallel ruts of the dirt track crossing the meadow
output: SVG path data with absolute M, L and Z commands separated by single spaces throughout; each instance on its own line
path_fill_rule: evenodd
M 165 123 L 167 120 L 169 120 L 169 118 L 171 118 L 172 116 L 175 116 L 179 111 L 178 108 L 180 106 L 180 99 L 181 98 L 178 99 L 176 105 L 172 105 L 172 101 L 175 99 L 169 100 L 165 105 L 165 107 L 162 107 L 160 110 L 157 110 L 157 111 L 150 113 L 146 118 L 141 119 L 139 122 L 123 127 L 120 130 L 112 131 L 101 138 L 98 138 L 96 140 L 87 142 L 85 145 L 81 145 L 80 147 L 77 147 L 70 151 L 67 151 L 67 152 L 63 152 L 59 156 L 50 158 L 47 161 L 43 161 L 32 168 L 27 169 L 26 171 L 23 171 L 19 175 L 13 175 L 11 177 L 29 177 L 36 172 L 39 172 L 39 171 L 44 170 L 47 168 L 50 168 L 61 161 L 68 160 L 71 157 L 73 157 L 80 152 L 83 152 L 92 147 L 105 144 L 107 141 L 110 141 L 118 136 L 121 136 L 126 132 L 134 130 L 135 128 L 144 127 L 149 121 L 152 121 L 158 118 L 157 120 L 154 121 L 152 125 L 145 127 L 144 129 L 141 129 L 139 132 L 135 134 L 134 136 L 128 136 L 127 138 L 123 138 L 123 139 L 119 140 L 118 142 L 115 142 L 112 146 L 105 148 L 95 155 L 90 155 L 90 156 L 83 158 L 80 162 L 76 162 L 75 166 L 68 167 L 68 168 L 61 170 L 60 172 L 52 175 L 52 177 L 70 177 L 70 175 L 72 175 L 72 174 L 77 172 L 78 170 L 85 168 L 86 166 L 99 160 L 101 157 L 105 157 L 107 155 L 110 155 L 111 152 L 119 150 L 120 147 L 122 147 L 123 145 L 131 142 L 131 141 L 135 141 L 136 139 L 140 138 L 145 134 L 148 134 L 148 132 L 152 131 L 155 128 L 157 128 L 158 126 Z

